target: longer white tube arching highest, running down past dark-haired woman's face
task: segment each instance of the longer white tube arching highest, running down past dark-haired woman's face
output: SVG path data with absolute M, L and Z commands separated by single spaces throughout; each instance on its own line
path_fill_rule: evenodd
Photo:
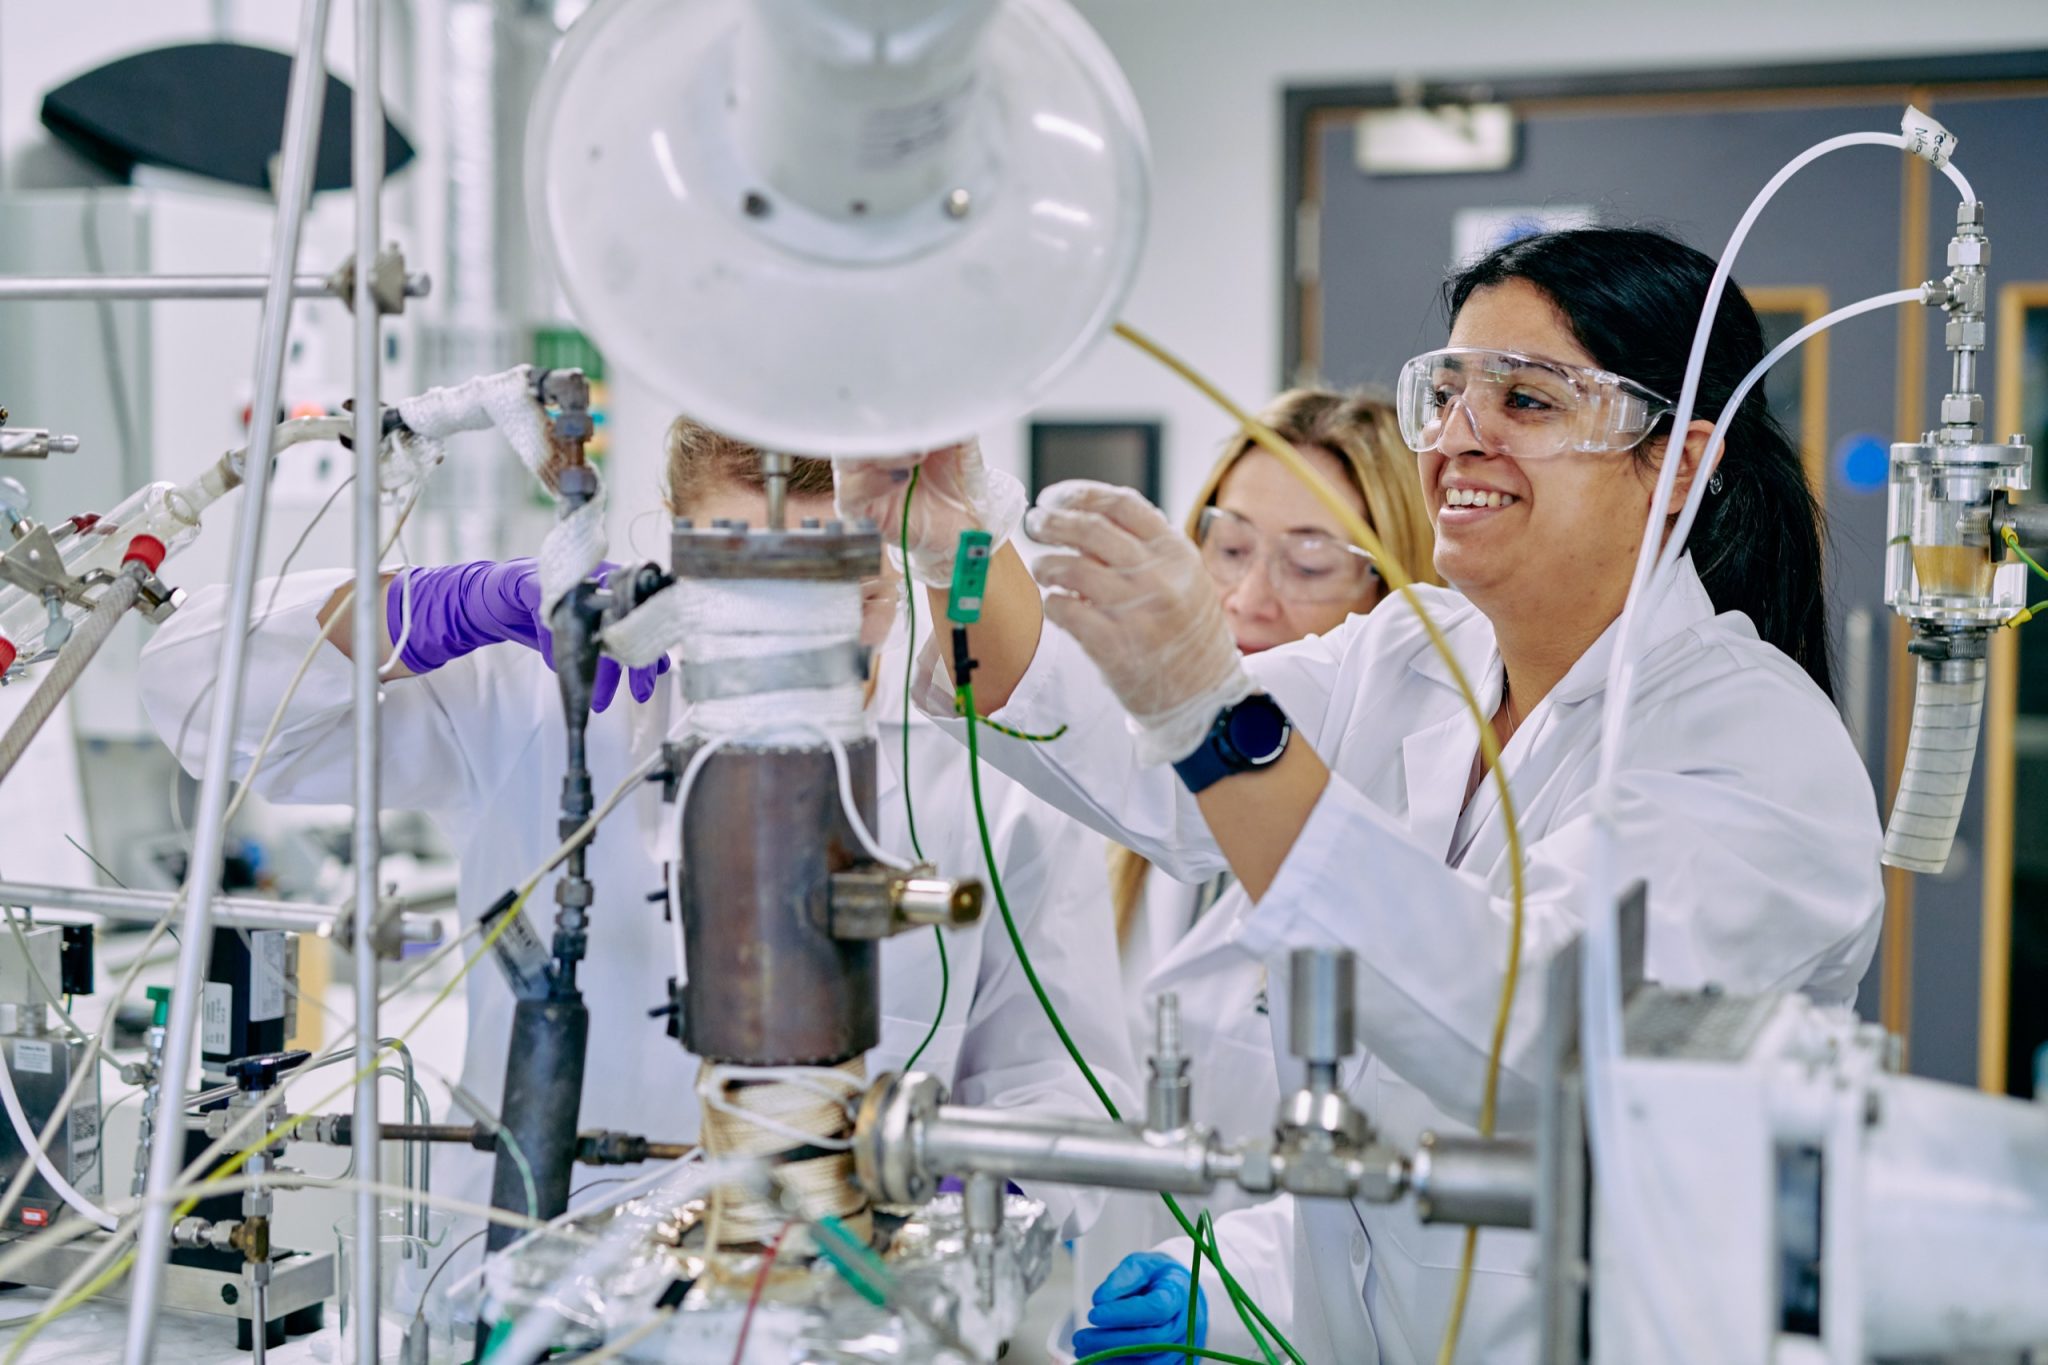
M 1722 256 L 1714 266 L 1714 278 L 1708 282 L 1706 299 L 1700 307 L 1700 323 L 1694 327 L 1692 354 L 1686 360 L 1686 381 L 1679 387 L 1677 409 L 1671 420 L 1673 434 L 1686 432 L 1692 424 L 1694 403 L 1700 397 L 1700 372 L 1706 366 L 1706 348 L 1714 334 L 1714 317 L 1720 311 L 1720 297 L 1726 293 L 1729 274 L 1735 270 L 1735 258 L 1741 252 L 1743 241 L 1749 237 L 1749 229 L 1763 213 L 1763 207 L 1792 176 L 1819 158 L 1831 151 L 1841 151 L 1843 147 L 1894 147 L 1898 151 L 1909 151 L 1909 143 L 1903 133 L 1843 133 L 1839 137 L 1819 141 L 1798 153 L 1786 162 L 1761 190 L 1757 190 L 1757 196 L 1749 203 L 1749 209 L 1735 225 L 1735 233 L 1731 233 L 1729 246 L 1722 250 Z M 1942 170 L 1962 194 L 1974 199 L 1970 182 L 1960 170 L 1954 166 L 1944 166 Z M 1630 1156 L 1624 1152 L 1626 1140 L 1622 1138 L 1622 1115 L 1612 1078 L 1606 1070 L 1622 1056 L 1620 925 L 1616 919 L 1618 888 L 1614 884 L 1614 776 L 1620 763 L 1622 737 L 1626 733 L 1628 698 L 1634 690 L 1632 653 L 1636 618 L 1640 614 L 1638 608 L 1649 596 L 1647 589 L 1663 555 L 1663 516 L 1659 510 L 1671 503 L 1671 489 L 1677 487 L 1677 469 L 1679 460 L 1667 458 L 1663 469 L 1657 471 L 1657 489 L 1651 493 L 1651 516 L 1642 532 L 1642 544 L 1636 551 L 1636 567 L 1628 583 L 1628 600 L 1622 606 L 1622 618 L 1616 626 L 1614 655 L 1608 661 L 1608 698 L 1599 724 L 1599 765 L 1593 782 L 1593 876 L 1587 888 L 1589 905 L 1585 913 L 1583 941 L 1585 972 L 1581 972 L 1579 978 L 1581 1062 L 1587 1089 L 1587 1140 L 1593 1148 L 1593 1181 L 1602 1203 L 1608 1207 L 1612 1226 L 1624 1230 L 1622 1236 L 1630 1244 L 1628 1259 L 1645 1271 L 1657 1267 L 1651 1271 L 1651 1277 L 1657 1281 L 1663 1281 L 1665 1261 L 1655 1238 L 1651 1236 L 1651 1230 L 1647 1228 L 1647 1220 L 1628 1216 L 1628 1212 L 1642 1209 L 1640 1185 L 1626 1179 L 1630 1175 Z M 1704 481 L 1700 483 L 1704 487 Z M 1690 1300 L 1667 1293 L 1665 1289 L 1667 1285 L 1657 1285 L 1657 1302 L 1649 1306 L 1647 1316 L 1657 1324 L 1665 1349 L 1669 1351 L 1669 1359 L 1681 1361 L 1686 1359 L 1683 1342 L 1710 1340 L 1710 1336 L 1677 1332 L 1671 1314 L 1661 1312 L 1659 1304 L 1683 1304 L 1690 1314 Z

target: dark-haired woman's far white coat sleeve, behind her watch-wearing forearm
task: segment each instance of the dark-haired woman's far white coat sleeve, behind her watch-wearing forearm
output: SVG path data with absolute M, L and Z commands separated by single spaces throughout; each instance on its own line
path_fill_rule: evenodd
M 1343 639 L 1362 622 L 1354 618 L 1327 636 L 1311 634 L 1245 659 L 1251 679 L 1280 702 L 1309 743 L 1317 741 L 1329 710 Z M 938 639 L 926 643 L 918 669 L 915 704 L 965 743 L 967 726 L 952 714 Z M 981 757 L 1040 800 L 1137 849 L 1182 882 L 1204 882 L 1229 868 L 1174 767 L 1139 763 L 1122 704 L 1065 630 L 1044 626 L 1030 669 L 989 718 L 1026 735 L 1065 726 L 1059 739 L 1042 743 L 975 729 Z

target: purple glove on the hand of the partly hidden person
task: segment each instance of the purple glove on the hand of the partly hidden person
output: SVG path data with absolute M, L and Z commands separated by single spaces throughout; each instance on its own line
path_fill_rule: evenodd
M 598 581 L 618 565 L 600 563 Z M 541 565 L 530 559 L 504 563 L 479 559 L 442 569 L 408 569 L 385 591 L 385 628 L 399 639 L 406 628 L 406 598 L 412 596 L 412 634 L 399 657 L 414 673 L 432 673 L 442 663 L 485 645 L 524 645 L 555 667 L 555 634 L 541 622 Z M 604 710 L 618 694 L 625 673 L 635 702 L 653 698 L 655 677 L 668 659 L 621 669 L 616 659 L 598 659 L 598 679 L 590 690 L 590 710 Z

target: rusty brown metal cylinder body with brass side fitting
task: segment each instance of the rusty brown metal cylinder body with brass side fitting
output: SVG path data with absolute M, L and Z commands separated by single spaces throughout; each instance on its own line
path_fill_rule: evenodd
M 846 745 L 874 827 L 874 743 Z M 831 1066 L 881 1038 L 881 954 L 829 933 L 831 874 L 860 860 L 831 749 L 727 745 L 682 821 L 684 1046 L 715 1062 Z

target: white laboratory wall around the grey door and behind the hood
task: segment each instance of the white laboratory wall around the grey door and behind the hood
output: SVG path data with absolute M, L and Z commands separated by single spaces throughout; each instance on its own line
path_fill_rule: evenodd
M 82 174 L 47 145 L 41 94 L 125 51 L 227 35 L 289 47 L 289 0 L 0 0 L 0 188 Z M 1227 391 L 1264 399 L 1280 360 L 1282 90 L 1307 82 L 1462 80 L 1647 68 L 1839 61 L 2048 47 L 2042 0 L 1554 0 L 1511 12 L 1391 0 L 1079 0 L 1137 90 L 1153 145 L 1153 219 L 1124 315 L 1206 368 Z M 428 143 L 436 117 L 440 0 L 385 0 L 385 72 L 395 117 Z M 88 18 L 90 16 L 90 18 Z M 352 0 L 336 0 L 330 68 L 352 70 Z M 408 41 L 410 37 L 410 41 Z M 408 108 L 414 113 L 408 115 Z M 387 201 L 434 260 L 432 166 Z M 1731 186 L 1731 194 L 1749 186 Z M 414 203 L 418 201 L 418 203 Z M 1327 244 L 1327 250 L 1341 250 Z M 1370 250 L 1370 248 L 1364 248 Z M 934 383 L 942 383 L 936 377 Z M 1165 497 L 1182 505 L 1225 436 L 1192 393 L 1114 342 L 1044 403 L 1061 417 L 1159 417 Z M 653 508 L 670 413 L 631 377 L 614 383 L 612 544 Z M 983 432 L 991 460 L 1024 467 L 1024 424 Z M 639 524 L 635 548 L 659 546 Z

